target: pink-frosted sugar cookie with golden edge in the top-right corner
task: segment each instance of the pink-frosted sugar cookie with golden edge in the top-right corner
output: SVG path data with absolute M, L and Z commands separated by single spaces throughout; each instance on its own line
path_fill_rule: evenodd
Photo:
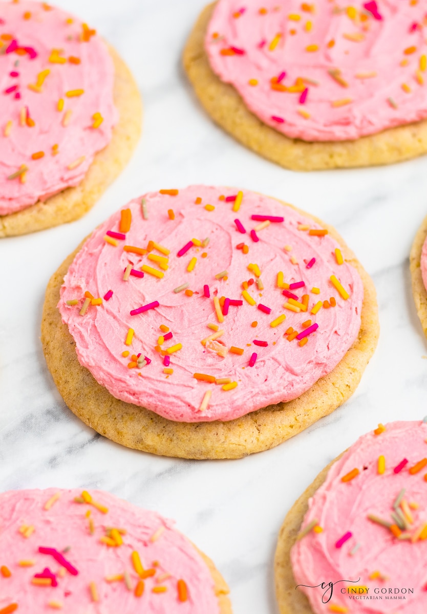
M 420 2 L 219 0 L 184 66 L 208 114 L 247 147 L 310 170 L 427 150 Z

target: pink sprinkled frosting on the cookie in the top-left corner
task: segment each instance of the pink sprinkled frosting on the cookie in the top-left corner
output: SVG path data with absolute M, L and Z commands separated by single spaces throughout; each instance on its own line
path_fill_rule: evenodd
M 44 6 L 0 3 L 0 215 L 78 185 L 117 121 L 114 66 L 101 37 L 63 10 Z M 85 31 L 88 41 L 82 40 Z M 51 61 L 58 57 L 65 63 Z M 30 89 L 43 71 L 50 72 L 40 91 Z M 74 90 L 84 93 L 66 96 Z M 92 127 L 95 114 L 103 118 L 97 128 Z M 35 125 L 29 126 L 27 117 Z M 39 152 L 44 156 L 34 160 Z M 22 166 L 25 174 L 8 179 Z

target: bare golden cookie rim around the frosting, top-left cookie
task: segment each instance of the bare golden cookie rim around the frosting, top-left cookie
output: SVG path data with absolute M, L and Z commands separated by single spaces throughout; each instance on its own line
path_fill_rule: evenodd
M 38 200 L 20 211 L 1 215 L 0 238 L 23 235 L 79 219 L 93 207 L 130 160 L 141 134 L 141 96 L 125 62 L 111 45 L 108 45 L 108 51 L 114 64 L 112 97 L 119 114 L 112 128 L 111 140 L 104 149 L 95 153 L 92 164 L 78 185 L 65 188 L 47 200 Z

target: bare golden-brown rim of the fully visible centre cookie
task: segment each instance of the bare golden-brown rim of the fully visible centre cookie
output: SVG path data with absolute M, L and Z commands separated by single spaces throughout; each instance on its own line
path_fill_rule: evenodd
M 308 217 L 327 228 L 332 238 L 339 242 L 343 257 L 358 271 L 364 286 L 358 338 L 329 375 L 318 379 L 294 400 L 270 405 L 227 422 L 171 421 L 113 397 L 80 365 L 74 340 L 57 309 L 64 276 L 79 247 L 52 276 L 42 319 L 42 344 L 47 365 L 69 408 L 88 426 L 122 445 L 165 456 L 195 459 L 239 458 L 272 448 L 334 411 L 355 391 L 374 352 L 378 336 L 377 304 L 372 281 L 336 231 Z

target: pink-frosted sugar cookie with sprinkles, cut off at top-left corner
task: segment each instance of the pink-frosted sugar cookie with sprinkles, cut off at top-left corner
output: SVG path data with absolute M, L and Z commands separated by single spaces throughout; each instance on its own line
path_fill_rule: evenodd
M 0 3 L 0 237 L 81 217 L 130 158 L 141 99 L 96 31 L 45 2 Z

